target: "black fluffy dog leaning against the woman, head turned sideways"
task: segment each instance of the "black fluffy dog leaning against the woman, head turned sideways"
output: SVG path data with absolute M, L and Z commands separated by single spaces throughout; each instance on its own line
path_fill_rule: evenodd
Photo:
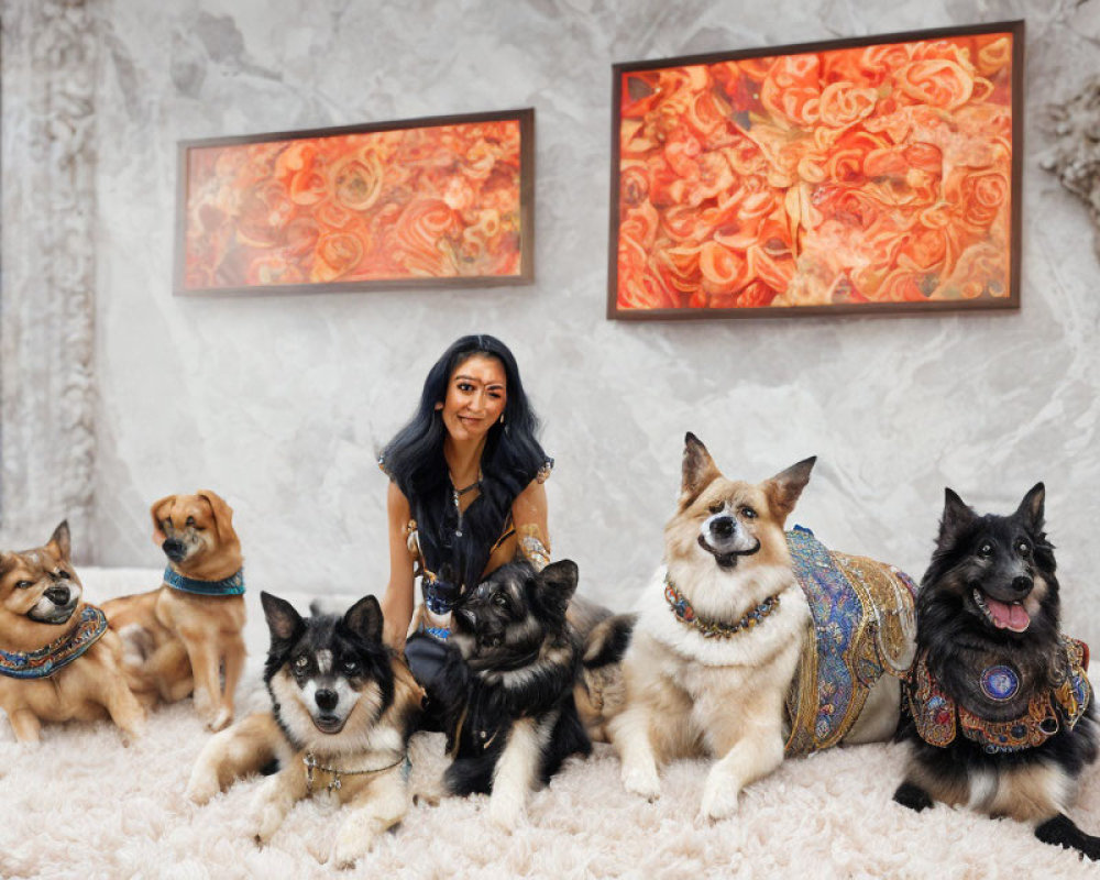
M 528 791 L 592 745 L 573 702 L 580 640 L 565 620 L 576 588 L 569 561 L 536 572 L 514 562 L 468 593 L 452 617 L 438 692 L 449 695 L 451 794 L 492 792 L 490 816 L 515 827 Z

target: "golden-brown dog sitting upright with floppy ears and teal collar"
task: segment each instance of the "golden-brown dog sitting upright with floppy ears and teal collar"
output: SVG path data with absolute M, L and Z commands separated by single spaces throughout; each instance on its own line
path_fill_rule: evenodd
M 131 688 L 147 702 L 195 693 L 211 730 L 233 719 L 244 667 L 244 578 L 233 512 L 218 495 L 169 495 L 153 505 L 153 542 L 168 558 L 164 584 L 103 610 L 127 642 Z

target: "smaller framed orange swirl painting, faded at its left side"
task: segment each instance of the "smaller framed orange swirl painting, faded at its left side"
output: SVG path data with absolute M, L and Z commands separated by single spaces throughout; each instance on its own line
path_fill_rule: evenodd
M 178 294 L 534 279 L 535 111 L 179 144 Z

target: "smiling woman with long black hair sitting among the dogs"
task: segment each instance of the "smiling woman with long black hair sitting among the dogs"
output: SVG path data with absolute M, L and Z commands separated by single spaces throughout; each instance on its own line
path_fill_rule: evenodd
M 391 479 L 385 638 L 405 647 L 429 692 L 459 596 L 517 551 L 539 569 L 549 562 L 542 483 L 553 461 L 538 425 L 507 345 L 462 337 L 428 372 L 416 414 L 378 460 Z M 406 645 L 417 576 L 424 610 Z

